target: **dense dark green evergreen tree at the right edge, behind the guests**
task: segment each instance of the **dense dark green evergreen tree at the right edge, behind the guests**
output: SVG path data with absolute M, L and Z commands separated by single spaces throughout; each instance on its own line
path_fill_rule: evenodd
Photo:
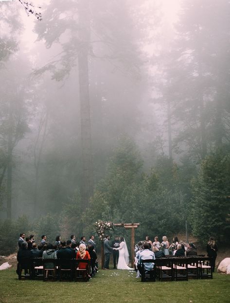
M 191 224 L 202 241 L 209 236 L 224 240 L 230 236 L 230 153 L 218 149 L 202 162 L 193 180 Z

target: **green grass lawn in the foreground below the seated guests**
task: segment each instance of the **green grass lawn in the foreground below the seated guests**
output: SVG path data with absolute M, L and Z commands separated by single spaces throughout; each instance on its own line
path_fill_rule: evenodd
M 15 269 L 0 271 L 0 303 L 230 303 L 230 275 L 212 280 L 141 283 L 127 270 L 100 270 L 86 282 L 19 281 Z

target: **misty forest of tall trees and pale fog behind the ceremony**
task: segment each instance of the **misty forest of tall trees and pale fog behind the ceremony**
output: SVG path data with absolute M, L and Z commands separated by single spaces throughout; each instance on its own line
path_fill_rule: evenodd
M 229 238 L 230 1 L 20 2 L 0 1 L 0 254 L 99 219 Z

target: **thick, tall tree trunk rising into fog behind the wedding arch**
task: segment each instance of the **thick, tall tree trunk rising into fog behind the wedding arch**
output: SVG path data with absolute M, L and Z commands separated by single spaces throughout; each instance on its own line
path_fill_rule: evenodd
M 79 97 L 81 114 L 81 142 L 83 159 L 82 178 L 82 208 L 89 205 L 89 198 L 93 193 L 93 162 L 91 147 L 91 122 L 89 103 L 88 52 L 90 43 L 89 1 L 79 0 L 79 40 L 78 70 Z

